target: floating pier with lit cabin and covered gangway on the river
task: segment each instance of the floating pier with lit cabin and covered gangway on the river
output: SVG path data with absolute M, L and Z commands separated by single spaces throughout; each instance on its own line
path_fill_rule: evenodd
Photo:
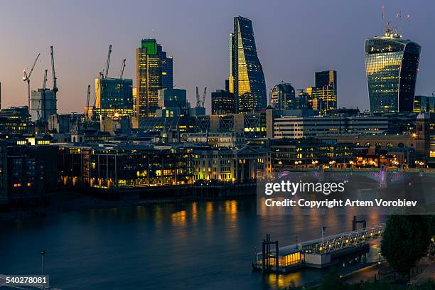
M 255 254 L 252 267 L 264 273 L 286 273 L 304 267 L 325 268 L 333 264 L 360 262 L 370 250 L 368 242 L 382 237 L 385 225 L 357 230 L 358 222 L 353 219 L 353 231 L 285 247 L 279 247 L 278 241 L 271 241 L 268 234 L 262 242 L 262 252 Z

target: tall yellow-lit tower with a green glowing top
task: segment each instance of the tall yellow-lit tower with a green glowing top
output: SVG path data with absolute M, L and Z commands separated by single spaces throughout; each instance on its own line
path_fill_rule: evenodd
M 143 39 L 136 48 L 136 116 L 155 117 L 158 92 L 173 87 L 173 58 L 168 57 L 156 39 Z

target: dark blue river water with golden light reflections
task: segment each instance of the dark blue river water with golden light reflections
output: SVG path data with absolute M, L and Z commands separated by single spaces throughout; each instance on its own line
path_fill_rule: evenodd
M 252 272 L 266 233 L 281 247 L 318 238 L 322 226 L 331 235 L 351 230 L 352 216 L 260 216 L 254 197 L 59 213 L 0 224 L 0 273 L 41 273 L 44 249 L 45 272 L 60 289 L 278 289 L 325 271 Z M 377 259 L 377 249 L 369 255 Z

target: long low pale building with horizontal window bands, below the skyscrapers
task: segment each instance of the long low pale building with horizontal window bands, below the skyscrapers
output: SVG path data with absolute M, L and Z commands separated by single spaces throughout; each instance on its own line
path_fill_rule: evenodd
M 388 130 L 386 117 L 276 117 L 268 118 L 267 136 L 276 139 L 301 139 L 350 134 L 383 134 Z

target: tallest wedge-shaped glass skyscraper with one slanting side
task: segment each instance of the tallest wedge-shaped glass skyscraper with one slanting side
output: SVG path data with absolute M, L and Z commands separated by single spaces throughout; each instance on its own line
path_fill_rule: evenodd
M 236 112 L 259 111 L 267 107 L 266 82 L 255 46 L 252 21 L 237 16 L 230 34 L 230 92 Z

